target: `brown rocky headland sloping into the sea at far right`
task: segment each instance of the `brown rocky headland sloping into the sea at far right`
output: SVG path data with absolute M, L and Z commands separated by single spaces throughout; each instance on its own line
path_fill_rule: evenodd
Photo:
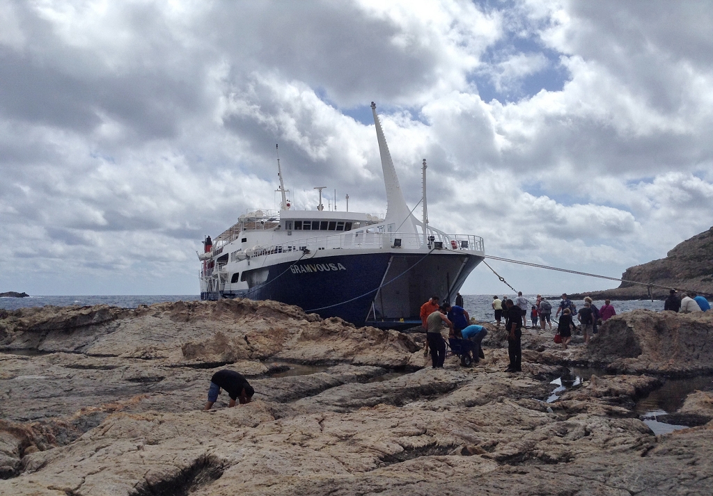
M 679 243 L 666 258 L 626 269 L 622 279 L 665 286 L 651 289 L 651 296 L 662 299 L 669 289 L 697 291 L 713 295 L 713 227 Z M 640 299 L 649 297 L 647 286 L 622 282 L 616 289 L 570 295 L 591 296 L 593 299 Z

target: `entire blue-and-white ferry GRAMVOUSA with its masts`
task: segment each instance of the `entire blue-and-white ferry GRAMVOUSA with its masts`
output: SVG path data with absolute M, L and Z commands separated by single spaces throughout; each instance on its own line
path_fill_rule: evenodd
M 432 227 L 422 163 L 423 216 L 409 209 L 396 176 L 376 105 L 371 103 L 386 188 L 386 214 L 294 210 L 277 155 L 279 211 L 249 209 L 198 253 L 200 298 L 271 299 L 356 326 L 420 325 L 431 296 L 450 301 L 483 260 L 483 238 Z

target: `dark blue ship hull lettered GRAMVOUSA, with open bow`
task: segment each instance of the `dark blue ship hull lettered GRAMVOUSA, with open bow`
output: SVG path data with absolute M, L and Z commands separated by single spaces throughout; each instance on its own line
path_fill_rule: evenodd
M 399 251 L 299 259 L 248 269 L 249 289 L 203 293 L 201 298 L 272 299 L 322 318 L 398 329 L 420 324 L 421 304 L 434 294 L 452 299 L 482 259 Z

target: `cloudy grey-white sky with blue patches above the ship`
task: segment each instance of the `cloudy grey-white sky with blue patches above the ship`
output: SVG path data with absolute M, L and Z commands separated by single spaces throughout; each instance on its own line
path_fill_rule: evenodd
M 620 277 L 713 225 L 709 1 L 0 1 L 0 291 L 198 294 L 205 234 L 314 186 Z M 421 215 L 421 207 L 414 211 Z M 614 281 L 491 267 L 525 293 Z M 511 292 L 484 264 L 465 294 Z

